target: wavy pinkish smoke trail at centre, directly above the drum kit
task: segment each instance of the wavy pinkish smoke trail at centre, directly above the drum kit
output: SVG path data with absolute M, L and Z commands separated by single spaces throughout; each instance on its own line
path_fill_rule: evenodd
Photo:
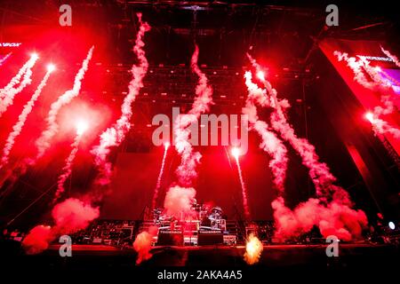
M 188 141 L 190 130 L 189 125 L 197 122 L 201 114 L 208 112 L 212 105 L 212 87 L 208 84 L 206 75 L 197 65 L 198 46 L 196 45 L 193 52 L 190 67 L 196 73 L 198 83 L 196 86 L 196 99 L 188 114 L 180 114 L 174 122 L 173 130 L 175 135 L 175 148 L 180 154 L 180 166 L 176 170 L 176 174 L 181 185 L 191 185 L 193 179 L 197 176 L 196 166 L 200 162 L 201 154 L 193 153 L 193 147 Z

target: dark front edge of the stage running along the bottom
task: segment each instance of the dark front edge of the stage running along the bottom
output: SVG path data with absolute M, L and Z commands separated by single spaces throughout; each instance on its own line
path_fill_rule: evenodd
M 103 245 L 73 245 L 71 257 L 60 257 L 59 245 L 52 245 L 44 253 L 27 256 L 18 248 L 2 254 L 7 266 L 34 270 L 133 270 L 136 252 L 132 248 L 115 248 Z M 346 271 L 353 269 L 373 270 L 398 267 L 400 248 L 394 245 L 373 245 L 367 243 L 340 244 L 338 257 L 325 254 L 326 245 L 268 245 L 264 246 L 258 267 L 266 269 L 318 269 Z M 10 251 L 10 250 L 9 250 Z M 140 264 L 143 268 L 164 266 L 186 267 L 246 267 L 244 246 L 203 246 L 152 248 L 148 261 Z M 10 257 L 12 255 L 12 257 Z M 247 265 L 248 267 L 248 265 Z

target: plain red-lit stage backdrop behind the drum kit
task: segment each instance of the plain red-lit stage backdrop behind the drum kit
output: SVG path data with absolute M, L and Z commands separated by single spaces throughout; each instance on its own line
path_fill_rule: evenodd
M 242 190 L 235 160 L 227 154 L 228 148 L 214 146 L 202 153 L 196 181 L 197 202 L 208 202 L 220 206 L 229 218 L 236 217 L 236 209 L 243 216 Z M 112 192 L 104 201 L 101 217 L 110 219 L 139 219 L 146 205 L 151 204 L 160 170 L 164 148 L 152 153 L 118 154 Z M 274 198 L 268 157 L 260 151 L 249 151 L 241 158 L 244 181 L 254 219 L 272 219 L 270 203 Z M 170 147 L 165 162 L 162 186 L 157 205 L 163 207 L 165 192 L 176 180 L 174 170 L 180 163 L 180 156 Z M 236 209 L 235 209 L 236 207 Z

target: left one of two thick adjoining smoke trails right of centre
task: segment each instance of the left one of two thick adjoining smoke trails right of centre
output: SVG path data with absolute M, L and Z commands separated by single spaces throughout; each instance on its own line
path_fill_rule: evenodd
M 260 147 L 272 157 L 269 168 L 274 175 L 274 184 L 279 192 L 283 192 L 288 162 L 287 149 L 281 139 L 277 138 L 274 132 L 268 130 L 267 122 L 260 121 L 257 115 L 254 101 L 261 102 L 262 106 L 269 105 L 265 90 L 252 83 L 251 72 L 246 72 L 244 77 L 249 94 L 243 113 L 248 115 L 251 129 L 259 133 L 262 139 Z

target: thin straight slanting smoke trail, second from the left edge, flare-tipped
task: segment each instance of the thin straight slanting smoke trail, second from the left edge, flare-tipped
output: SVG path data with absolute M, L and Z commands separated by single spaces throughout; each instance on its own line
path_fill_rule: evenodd
M 47 71 L 46 74 L 44 75 L 44 78 L 41 83 L 36 88 L 36 91 L 28 101 L 28 103 L 24 106 L 20 116 L 18 117 L 18 122 L 14 124 L 12 127 L 12 132 L 9 134 L 8 138 L 6 139 L 6 143 L 3 149 L 3 156 L 0 161 L 0 169 L 4 167 L 4 165 L 8 162 L 10 152 L 12 150 L 12 146 L 14 145 L 15 138 L 17 138 L 20 135 L 20 132 L 22 131 L 22 128 L 27 121 L 28 114 L 32 111 L 33 106 L 35 106 L 36 100 L 39 98 L 40 94 L 42 93 L 42 90 L 44 86 L 47 83 L 47 80 L 50 77 L 50 74 L 52 71 Z

